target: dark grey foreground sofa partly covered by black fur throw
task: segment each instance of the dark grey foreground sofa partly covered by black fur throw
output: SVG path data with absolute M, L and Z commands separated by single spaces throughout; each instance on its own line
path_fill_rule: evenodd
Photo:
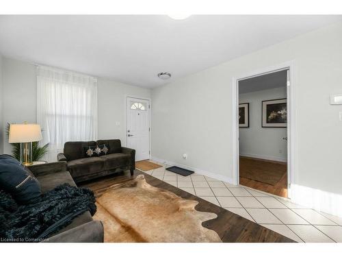
M 70 173 L 66 171 L 66 162 L 50 162 L 29 167 L 34 176 L 40 182 L 42 193 L 49 191 L 60 184 L 70 184 L 76 186 Z M 92 219 L 89 211 L 84 212 L 79 217 L 73 219 L 57 233 L 52 234 L 43 242 L 83 242 L 83 243 L 102 243 L 103 225 L 101 221 Z

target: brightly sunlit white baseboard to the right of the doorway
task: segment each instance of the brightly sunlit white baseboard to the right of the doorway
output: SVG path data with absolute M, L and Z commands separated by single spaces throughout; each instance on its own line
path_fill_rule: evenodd
M 342 217 L 342 195 L 298 184 L 292 184 L 291 191 L 293 203 Z

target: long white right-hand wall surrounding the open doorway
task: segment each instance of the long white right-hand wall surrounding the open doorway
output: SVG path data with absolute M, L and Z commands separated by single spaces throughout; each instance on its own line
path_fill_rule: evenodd
M 337 23 L 154 89 L 153 156 L 233 178 L 232 77 L 294 60 L 294 184 L 341 195 L 342 106 L 329 104 L 330 94 L 342 93 L 341 46 Z

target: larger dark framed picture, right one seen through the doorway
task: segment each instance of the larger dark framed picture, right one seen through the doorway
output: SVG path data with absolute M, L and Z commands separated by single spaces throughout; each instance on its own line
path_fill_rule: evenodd
M 287 99 L 263 101 L 261 112 L 262 127 L 287 127 Z

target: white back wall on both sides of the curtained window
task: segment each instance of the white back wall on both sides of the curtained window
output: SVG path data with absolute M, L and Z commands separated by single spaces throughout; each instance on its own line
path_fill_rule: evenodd
M 98 138 L 119 138 L 126 144 L 126 95 L 150 97 L 150 89 L 98 79 Z M 36 66 L 3 58 L 3 124 L 36 122 Z M 116 125 L 116 121 L 120 125 Z M 4 153 L 11 146 L 4 142 Z

